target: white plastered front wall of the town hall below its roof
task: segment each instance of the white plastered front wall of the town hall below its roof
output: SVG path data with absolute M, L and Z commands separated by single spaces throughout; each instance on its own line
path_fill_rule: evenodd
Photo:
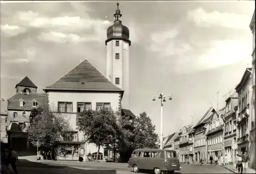
M 72 109 L 69 112 L 62 112 L 61 115 L 67 120 L 69 120 L 73 131 L 77 131 L 76 116 L 78 114 L 78 103 L 91 103 L 91 109 L 96 110 L 97 103 L 110 103 L 110 107 L 115 111 L 118 109 L 119 105 L 119 92 L 58 92 L 58 91 L 47 91 L 48 104 L 52 111 L 58 111 L 59 102 L 72 103 Z M 84 141 L 82 132 L 77 131 L 76 138 L 74 141 Z M 89 153 L 93 154 L 98 151 L 98 148 L 94 143 L 84 144 L 84 159 L 87 159 Z M 100 148 L 100 153 L 102 153 L 104 160 L 104 148 Z M 58 159 L 61 157 L 58 156 Z M 73 158 L 74 159 L 74 158 Z

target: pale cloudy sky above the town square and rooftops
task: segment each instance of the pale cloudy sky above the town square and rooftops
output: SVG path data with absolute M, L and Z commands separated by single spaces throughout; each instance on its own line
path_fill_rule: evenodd
M 210 106 L 224 107 L 228 92 L 251 67 L 254 1 L 119 2 L 130 30 L 130 100 L 163 134 L 194 125 Z M 106 29 L 116 2 L 1 2 L 1 98 L 28 76 L 38 92 L 81 60 L 106 73 Z M 219 99 L 217 92 L 219 92 Z M 191 117 L 193 116 L 193 117 Z

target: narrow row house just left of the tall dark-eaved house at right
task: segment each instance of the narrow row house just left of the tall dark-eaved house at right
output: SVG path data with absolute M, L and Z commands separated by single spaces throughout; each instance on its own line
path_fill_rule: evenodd
M 236 112 L 238 110 L 238 97 L 237 94 L 230 96 L 226 99 L 226 111 L 222 115 L 224 120 L 224 156 L 227 156 L 228 164 L 234 164 L 236 161 L 236 150 L 231 148 L 233 143 L 237 142 L 237 119 Z

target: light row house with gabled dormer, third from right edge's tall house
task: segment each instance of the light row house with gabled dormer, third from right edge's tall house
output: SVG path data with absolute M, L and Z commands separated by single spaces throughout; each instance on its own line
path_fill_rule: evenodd
M 225 108 L 219 111 L 212 110 L 209 116 L 209 123 L 206 127 L 206 147 L 207 147 L 207 162 L 209 157 L 219 157 L 223 153 L 223 120 L 221 115 L 225 112 Z

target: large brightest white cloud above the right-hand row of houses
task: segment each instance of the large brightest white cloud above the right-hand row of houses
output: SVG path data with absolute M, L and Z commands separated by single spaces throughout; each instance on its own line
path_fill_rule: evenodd
M 214 40 L 205 47 L 202 54 L 192 52 L 177 59 L 173 70 L 177 73 L 190 73 L 239 63 L 247 58 L 250 58 L 249 43 L 236 40 Z

